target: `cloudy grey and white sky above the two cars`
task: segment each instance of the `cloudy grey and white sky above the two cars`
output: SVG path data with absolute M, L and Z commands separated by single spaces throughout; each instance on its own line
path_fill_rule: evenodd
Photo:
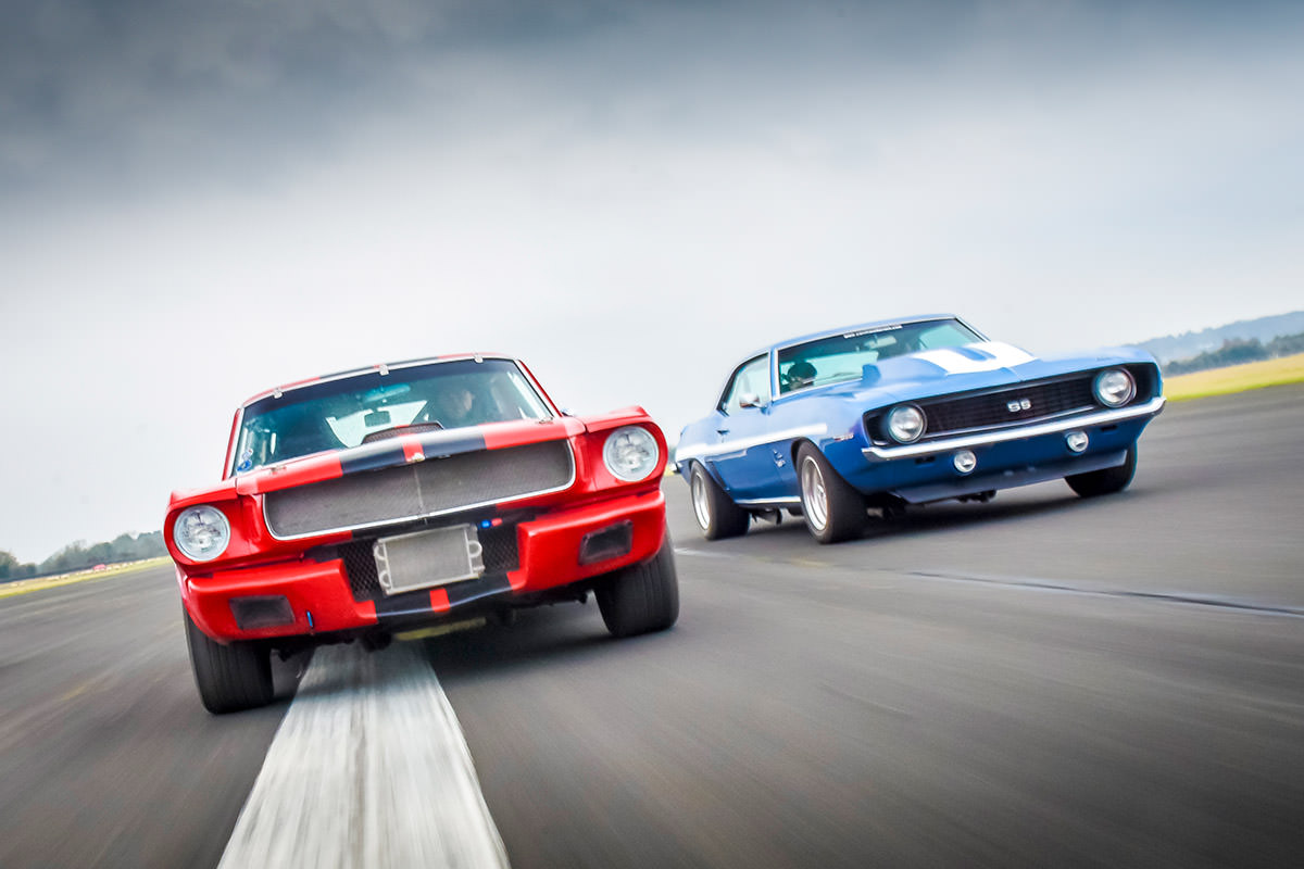
M 522 356 L 668 430 L 762 344 L 1304 305 L 1304 4 L 50 0 L 0 30 L 0 548 L 162 525 L 275 383 Z

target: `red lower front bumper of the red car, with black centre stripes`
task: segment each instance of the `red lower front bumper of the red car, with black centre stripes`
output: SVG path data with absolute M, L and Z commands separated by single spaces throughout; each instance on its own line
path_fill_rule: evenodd
M 585 537 L 619 528 L 617 537 L 623 539 L 625 525 L 629 525 L 627 551 L 582 563 Z M 518 569 L 393 597 L 356 599 L 342 558 L 314 560 L 304 555 L 292 562 L 209 575 L 186 576 L 179 569 L 177 575 L 183 602 L 196 625 L 214 640 L 228 642 L 359 632 L 387 621 L 438 621 L 468 605 L 494 598 L 523 603 L 531 594 L 644 562 L 656 555 L 664 537 L 665 496 L 656 490 L 553 509 L 520 522 Z M 250 598 L 276 599 L 289 620 L 263 627 L 253 627 L 248 619 L 237 623 L 236 611 L 246 611 Z M 284 603 L 279 603 L 280 598 Z

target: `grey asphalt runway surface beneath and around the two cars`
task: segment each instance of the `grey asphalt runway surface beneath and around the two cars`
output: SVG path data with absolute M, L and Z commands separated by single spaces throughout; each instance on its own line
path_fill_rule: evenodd
M 511 864 L 1300 865 L 1304 387 L 1174 405 L 1128 491 L 707 543 L 674 631 L 428 641 Z M 170 572 L 0 601 L 0 866 L 215 865 L 288 707 L 194 697 Z

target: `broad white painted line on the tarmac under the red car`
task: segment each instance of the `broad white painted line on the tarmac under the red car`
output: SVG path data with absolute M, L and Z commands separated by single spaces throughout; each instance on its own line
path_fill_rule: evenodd
M 421 644 L 317 649 L 219 869 L 507 865 Z

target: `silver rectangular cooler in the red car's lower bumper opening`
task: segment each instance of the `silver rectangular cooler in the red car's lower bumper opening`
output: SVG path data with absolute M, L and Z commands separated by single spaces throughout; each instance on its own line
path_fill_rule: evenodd
M 385 594 L 429 589 L 484 575 L 484 548 L 471 525 L 382 537 L 372 545 Z

